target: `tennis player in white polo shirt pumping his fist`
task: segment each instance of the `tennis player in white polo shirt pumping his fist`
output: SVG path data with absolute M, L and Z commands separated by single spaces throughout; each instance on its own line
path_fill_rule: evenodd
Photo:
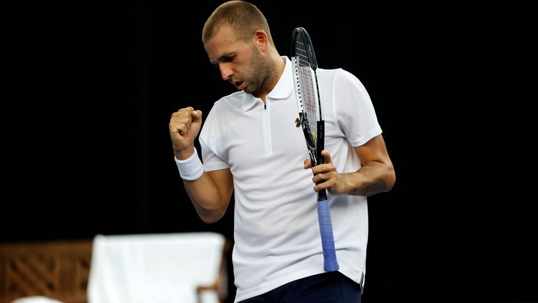
M 291 34 L 291 32 L 290 32 Z M 396 180 L 366 89 L 343 69 L 318 69 L 325 108 L 325 164 L 311 168 L 291 62 L 261 11 L 221 4 L 202 30 L 209 61 L 237 92 L 202 112 L 179 109 L 170 137 L 179 174 L 201 219 L 216 222 L 235 195 L 235 302 L 361 301 L 366 197 Z M 194 147 L 199 137 L 201 154 Z M 329 153 L 330 152 L 330 153 Z M 326 189 L 340 269 L 324 271 L 316 191 Z

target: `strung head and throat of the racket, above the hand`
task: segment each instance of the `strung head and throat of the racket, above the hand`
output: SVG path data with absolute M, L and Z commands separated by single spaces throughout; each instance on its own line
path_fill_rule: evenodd
M 322 120 L 322 112 L 319 106 L 316 55 L 310 36 L 303 27 L 297 27 L 291 34 L 291 62 L 299 119 L 312 166 L 316 166 L 320 158 L 319 140 L 323 136 L 320 136 L 318 126 Z

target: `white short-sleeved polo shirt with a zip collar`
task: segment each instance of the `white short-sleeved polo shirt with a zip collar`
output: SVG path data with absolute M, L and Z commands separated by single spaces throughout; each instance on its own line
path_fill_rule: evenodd
M 286 58 L 286 57 L 283 57 Z M 353 147 L 381 133 L 360 81 L 343 69 L 318 69 L 325 102 L 325 149 L 338 173 L 357 171 Z M 206 171 L 230 168 L 235 194 L 235 302 L 323 270 L 317 194 L 298 117 L 291 61 L 261 99 L 243 91 L 215 102 L 200 133 Z M 340 272 L 363 283 L 368 238 L 364 196 L 331 196 Z

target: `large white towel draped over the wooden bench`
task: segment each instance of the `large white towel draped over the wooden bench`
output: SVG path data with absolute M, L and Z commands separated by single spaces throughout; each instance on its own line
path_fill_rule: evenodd
M 88 303 L 195 303 L 196 287 L 219 275 L 224 237 L 216 233 L 97 235 Z M 203 297 L 216 303 L 216 295 Z

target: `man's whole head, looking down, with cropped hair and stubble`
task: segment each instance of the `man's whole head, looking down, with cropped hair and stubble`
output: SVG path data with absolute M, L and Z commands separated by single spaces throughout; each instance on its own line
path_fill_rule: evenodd
M 284 69 L 267 20 L 248 2 L 229 1 L 216 8 L 205 23 L 202 42 L 222 79 L 256 97 L 267 95 Z

